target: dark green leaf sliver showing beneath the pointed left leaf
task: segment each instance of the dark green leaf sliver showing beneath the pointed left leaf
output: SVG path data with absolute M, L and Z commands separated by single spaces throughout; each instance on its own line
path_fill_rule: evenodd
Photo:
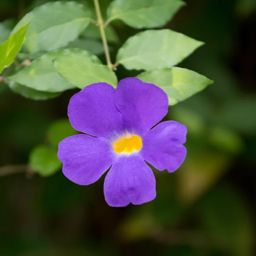
M 43 91 L 34 90 L 24 85 L 17 84 L 14 81 L 10 81 L 8 85 L 13 92 L 18 93 L 21 96 L 28 99 L 46 100 L 46 99 L 56 98 L 61 95 L 61 93 L 47 93 Z

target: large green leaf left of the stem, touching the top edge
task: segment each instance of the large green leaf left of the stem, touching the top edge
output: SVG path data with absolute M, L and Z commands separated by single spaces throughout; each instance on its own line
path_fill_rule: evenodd
M 46 3 L 25 15 L 13 33 L 30 22 L 23 49 L 30 53 L 51 51 L 75 40 L 90 23 L 91 15 L 90 9 L 73 1 Z

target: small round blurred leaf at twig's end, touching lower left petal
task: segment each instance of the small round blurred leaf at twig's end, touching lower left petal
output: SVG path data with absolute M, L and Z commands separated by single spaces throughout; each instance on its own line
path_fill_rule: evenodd
M 61 169 L 61 161 L 57 157 L 57 149 L 40 145 L 32 150 L 29 156 L 29 165 L 43 177 L 55 174 Z

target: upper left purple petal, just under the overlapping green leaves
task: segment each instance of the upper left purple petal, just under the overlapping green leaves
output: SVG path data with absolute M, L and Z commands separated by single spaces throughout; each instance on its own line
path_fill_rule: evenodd
M 106 83 L 91 84 L 73 95 L 68 105 L 71 125 L 96 137 L 123 130 L 122 116 L 115 105 L 115 89 Z

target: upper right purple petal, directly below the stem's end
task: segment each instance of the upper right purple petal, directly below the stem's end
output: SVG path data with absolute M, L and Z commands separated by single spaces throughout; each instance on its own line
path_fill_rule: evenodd
M 167 114 L 168 106 L 166 93 L 154 84 L 137 78 L 126 78 L 117 86 L 116 107 L 128 131 L 142 134 L 149 130 Z

